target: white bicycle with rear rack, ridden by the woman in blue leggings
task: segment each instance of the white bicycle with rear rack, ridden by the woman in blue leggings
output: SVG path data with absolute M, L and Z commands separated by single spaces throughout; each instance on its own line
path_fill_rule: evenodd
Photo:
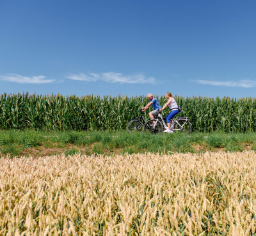
M 162 116 L 161 110 L 158 111 L 159 114 L 157 119 L 149 120 L 144 124 L 143 133 L 156 134 L 167 129 L 166 118 Z M 192 125 L 189 122 L 189 117 L 176 117 L 175 119 L 172 119 L 171 130 L 173 132 L 180 132 L 184 135 L 189 135 L 192 131 Z

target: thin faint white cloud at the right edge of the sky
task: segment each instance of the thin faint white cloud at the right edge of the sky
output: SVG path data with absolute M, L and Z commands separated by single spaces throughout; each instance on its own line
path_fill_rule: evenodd
M 212 81 L 212 80 L 193 80 L 198 84 L 204 85 L 214 85 L 214 86 L 223 86 L 223 87 L 256 87 L 256 80 L 227 80 L 227 81 Z

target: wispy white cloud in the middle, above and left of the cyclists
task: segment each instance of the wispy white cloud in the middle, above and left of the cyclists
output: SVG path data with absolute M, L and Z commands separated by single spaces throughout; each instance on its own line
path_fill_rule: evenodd
M 102 80 L 109 83 L 120 83 L 120 84 L 157 84 L 156 78 L 145 77 L 142 73 L 136 75 L 123 75 L 122 73 L 116 72 L 104 72 L 104 73 L 84 73 L 69 74 L 70 80 L 79 80 L 94 82 L 97 80 Z

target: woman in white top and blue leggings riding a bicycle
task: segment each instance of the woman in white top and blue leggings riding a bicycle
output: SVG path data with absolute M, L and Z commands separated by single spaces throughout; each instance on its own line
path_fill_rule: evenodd
M 168 101 L 167 103 L 164 104 L 163 108 L 161 108 L 160 110 L 164 110 L 164 108 L 170 107 L 171 112 L 168 115 L 166 115 L 166 122 L 167 122 L 168 128 L 164 130 L 164 132 L 172 133 L 172 130 L 171 130 L 172 119 L 175 115 L 179 113 L 179 110 L 178 110 L 177 102 L 173 98 L 173 95 L 171 92 L 166 92 L 166 98 L 168 99 Z

